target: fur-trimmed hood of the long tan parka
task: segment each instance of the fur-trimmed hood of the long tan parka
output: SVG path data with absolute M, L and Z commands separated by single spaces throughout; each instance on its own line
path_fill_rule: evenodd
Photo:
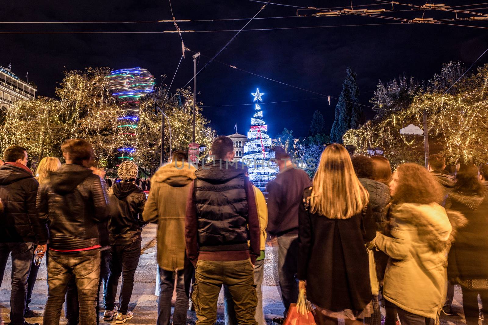
M 197 169 L 188 162 L 169 162 L 161 166 L 151 177 L 151 183 L 155 186 L 155 183 L 166 183 L 169 186 L 185 186 L 195 177 L 195 171 Z

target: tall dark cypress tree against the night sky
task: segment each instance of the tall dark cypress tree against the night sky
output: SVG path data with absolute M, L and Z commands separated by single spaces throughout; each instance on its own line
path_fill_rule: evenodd
M 349 129 L 356 129 L 365 121 L 364 112 L 359 101 L 359 89 L 356 83 L 356 73 L 350 67 L 346 69 L 346 78 L 342 84 L 341 96 L 336 105 L 334 123 L 330 131 L 332 142 L 342 143 L 342 136 Z

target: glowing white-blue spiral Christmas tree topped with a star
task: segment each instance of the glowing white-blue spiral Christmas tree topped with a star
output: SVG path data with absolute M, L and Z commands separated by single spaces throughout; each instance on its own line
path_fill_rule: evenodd
M 263 101 L 264 93 L 252 93 L 254 101 Z M 246 163 L 249 179 L 258 185 L 264 185 L 266 182 L 274 179 L 278 173 L 276 162 L 269 161 L 274 159 L 275 153 L 271 150 L 271 138 L 267 134 L 268 126 L 263 120 L 263 110 L 256 103 L 254 106 L 255 113 L 251 118 L 251 128 L 247 133 L 247 143 L 244 145 L 243 161 Z M 263 189 L 262 186 L 258 186 Z

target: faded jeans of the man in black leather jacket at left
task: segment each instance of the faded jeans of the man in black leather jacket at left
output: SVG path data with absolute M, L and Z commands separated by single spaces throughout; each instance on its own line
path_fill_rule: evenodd
M 64 295 L 71 277 L 78 289 L 80 325 L 97 323 L 96 300 L 100 278 L 100 249 L 77 252 L 49 251 L 48 295 L 43 325 L 59 325 Z

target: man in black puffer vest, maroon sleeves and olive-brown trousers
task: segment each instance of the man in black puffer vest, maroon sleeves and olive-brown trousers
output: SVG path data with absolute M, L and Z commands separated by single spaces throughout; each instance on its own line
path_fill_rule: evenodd
M 261 252 L 254 192 L 244 164 L 232 162 L 229 137 L 215 139 L 211 152 L 215 159 L 195 172 L 186 205 L 186 253 L 196 267 L 196 324 L 215 324 L 219 292 L 226 285 L 237 322 L 256 325 L 253 271 Z

